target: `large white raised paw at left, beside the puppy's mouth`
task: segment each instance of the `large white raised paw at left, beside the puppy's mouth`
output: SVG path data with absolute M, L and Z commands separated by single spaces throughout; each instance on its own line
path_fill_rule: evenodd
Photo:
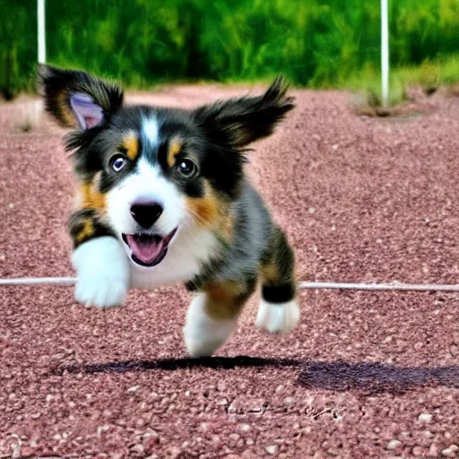
M 75 299 L 85 306 L 121 306 L 129 290 L 129 262 L 116 238 L 84 242 L 72 255 L 77 273 Z

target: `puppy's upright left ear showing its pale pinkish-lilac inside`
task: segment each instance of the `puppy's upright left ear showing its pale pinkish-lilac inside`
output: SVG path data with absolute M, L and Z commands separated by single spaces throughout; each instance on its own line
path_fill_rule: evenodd
M 123 104 L 120 88 L 86 72 L 40 64 L 38 83 L 48 113 L 65 127 L 98 126 Z

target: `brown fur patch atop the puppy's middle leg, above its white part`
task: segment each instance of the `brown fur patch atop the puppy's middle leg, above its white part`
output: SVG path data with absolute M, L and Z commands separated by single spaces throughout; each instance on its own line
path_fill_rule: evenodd
M 205 286 L 208 296 L 205 309 L 207 315 L 215 320 L 232 319 L 238 316 L 242 302 L 238 296 L 244 293 L 244 288 L 237 282 L 209 283 Z

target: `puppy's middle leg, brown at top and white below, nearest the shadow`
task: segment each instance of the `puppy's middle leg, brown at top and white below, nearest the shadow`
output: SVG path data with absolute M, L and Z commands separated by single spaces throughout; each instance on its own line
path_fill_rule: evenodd
M 254 290 L 255 280 L 209 282 L 196 294 L 183 329 L 186 349 L 192 357 L 210 357 L 228 341 Z

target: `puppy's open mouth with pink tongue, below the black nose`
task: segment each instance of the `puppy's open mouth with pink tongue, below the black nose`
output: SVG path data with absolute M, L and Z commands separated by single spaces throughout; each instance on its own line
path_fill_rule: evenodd
M 131 249 L 131 258 L 141 266 L 160 264 L 168 253 L 170 239 L 176 234 L 177 228 L 166 236 L 159 234 L 122 234 L 126 245 Z

